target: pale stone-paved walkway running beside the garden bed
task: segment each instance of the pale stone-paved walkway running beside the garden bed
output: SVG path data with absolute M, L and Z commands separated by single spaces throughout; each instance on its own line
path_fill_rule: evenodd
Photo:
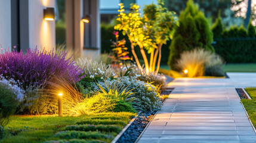
M 174 91 L 138 142 L 256 142 L 232 79 L 180 78 L 168 86 Z

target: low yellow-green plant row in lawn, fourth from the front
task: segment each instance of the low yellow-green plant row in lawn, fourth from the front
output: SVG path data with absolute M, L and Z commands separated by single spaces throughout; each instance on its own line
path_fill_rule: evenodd
M 126 123 L 124 121 L 119 120 L 109 120 L 109 119 L 90 119 L 90 120 L 83 120 L 76 122 L 77 125 L 84 125 L 84 124 L 90 124 L 90 125 L 121 125 L 125 126 Z

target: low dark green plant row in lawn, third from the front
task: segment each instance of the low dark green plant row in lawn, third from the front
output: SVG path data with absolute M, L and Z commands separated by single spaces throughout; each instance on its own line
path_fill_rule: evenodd
M 119 133 L 122 129 L 113 125 L 72 125 L 66 126 L 65 130 L 79 131 L 100 131 L 100 132 L 116 132 Z

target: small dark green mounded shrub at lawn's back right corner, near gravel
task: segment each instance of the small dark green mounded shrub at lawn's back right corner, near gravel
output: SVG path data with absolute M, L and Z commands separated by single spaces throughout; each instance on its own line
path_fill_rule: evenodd
M 132 107 L 132 104 L 125 101 L 116 101 L 114 112 L 131 112 L 136 113 L 136 110 Z

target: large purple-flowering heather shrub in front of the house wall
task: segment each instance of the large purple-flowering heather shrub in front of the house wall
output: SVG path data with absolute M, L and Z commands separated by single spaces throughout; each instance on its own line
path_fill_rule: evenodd
M 29 87 L 45 87 L 46 81 L 54 82 L 54 77 L 67 80 L 70 83 L 78 82 L 82 71 L 75 66 L 70 57 L 65 60 L 66 51 L 47 52 L 39 49 L 27 49 L 26 54 L 17 51 L 8 51 L 0 54 L 0 74 L 7 79 L 14 79 L 21 83 L 24 89 Z

